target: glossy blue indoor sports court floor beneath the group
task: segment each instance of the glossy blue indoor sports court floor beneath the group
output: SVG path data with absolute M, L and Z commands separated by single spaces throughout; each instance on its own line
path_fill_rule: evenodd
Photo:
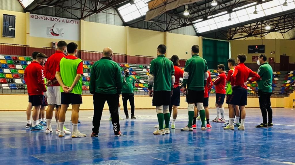
M 187 110 L 179 110 L 176 129 L 163 136 L 153 135 L 155 110 L 136 110 L 137 119 L 120 121 L 121 137 L 114 137 L 104 111 L 96 138 L 90 137 L 92 111 L 80 112 L 78 129 L 85 138 L 31 132 L 25 128 L 25 112 L 0 112 L 0 164 L 295 164 L 295 110 L 273 111 L 273 128 L 255 128 L 262 122 L 261 112 L 247 109 L 245 131 L 223 130 L 223 123 L 213 122 L 212 129 L 201 131 L 197 121 L 197 129 L 181 132 Z M 210 112 L 212 120 L 216 111 Z M 70 115 L 68 111 L 68 128 Z

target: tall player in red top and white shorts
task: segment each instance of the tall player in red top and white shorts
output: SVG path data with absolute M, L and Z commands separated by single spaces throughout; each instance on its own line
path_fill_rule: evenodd
M 56 68 L 59 65 L 60 60 L 65 57 L 65 52 L 67 50 L 67 43 L 65 41 L 59 41 L 58 42 L 58 48 L 56 52 L 51 55 L 48 60 L 45 63 L 45 78 L 48 81 L 48 84 L 50 86 L 47 87 L 47 103 L 48 107 L 46 110 L 46 122 L 47 122 L 47 129 L 45 131 L 45 134 L 51 134 L 52 133 L 52 127 L 51 127 L 51 120 L 53 116 L 53 110 L 56 105 L 58 105 L 58 110 L 55 112 L 56 119 L 57 119 L 57 128 L 55 129 L 55 134 L 59 134 L 59 110 L 61 107 L 61 94 L 60 94 L 60 84 L 55 78 L 55 72 Z M 69 129 L 64 128 L 65 134 L 71 134 L 69 132 Z

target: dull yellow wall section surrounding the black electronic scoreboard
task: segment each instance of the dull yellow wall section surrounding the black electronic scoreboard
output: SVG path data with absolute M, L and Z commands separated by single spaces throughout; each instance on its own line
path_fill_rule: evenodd
M 276 63 L 280 63 L 280 41 L 281 39 L 262 39 L 262 40 L 232 40 L 230 41 L 231 56 L 237 58 L 238 54 L 244 53 L 247 55 L 245 63 L 252 62 L 252 56 L 257 56 L 260 53 L 248 54 L 249 45 L 265 45 L 265 53 L 268 57 L 274 57 Z M 276 54 L 270 54 L 275 51 Z

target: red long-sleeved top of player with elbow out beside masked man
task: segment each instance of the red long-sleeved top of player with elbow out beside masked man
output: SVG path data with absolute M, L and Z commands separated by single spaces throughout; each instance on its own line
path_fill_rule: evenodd
M 253 72 L 251 69 L 246 67 L 244 63 L 239 63 L 239 65 L 235 66 L 230 85 L 240 86 L 247 89 L 247 86 L 244 83 L 250 77 L 252 77 L 249 80 L 250 83 L 257 81 L 260 78 L 260 76 L 257 73 Z

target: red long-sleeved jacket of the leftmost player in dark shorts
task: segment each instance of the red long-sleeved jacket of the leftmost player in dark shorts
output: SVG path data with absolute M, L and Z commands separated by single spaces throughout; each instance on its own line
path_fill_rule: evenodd
M 24 70 L 24 80 L 29 96 L 43 95 L 43 92 L 47 91 L 44 84 L 44 68 L 37 61 L 30 63 Z

